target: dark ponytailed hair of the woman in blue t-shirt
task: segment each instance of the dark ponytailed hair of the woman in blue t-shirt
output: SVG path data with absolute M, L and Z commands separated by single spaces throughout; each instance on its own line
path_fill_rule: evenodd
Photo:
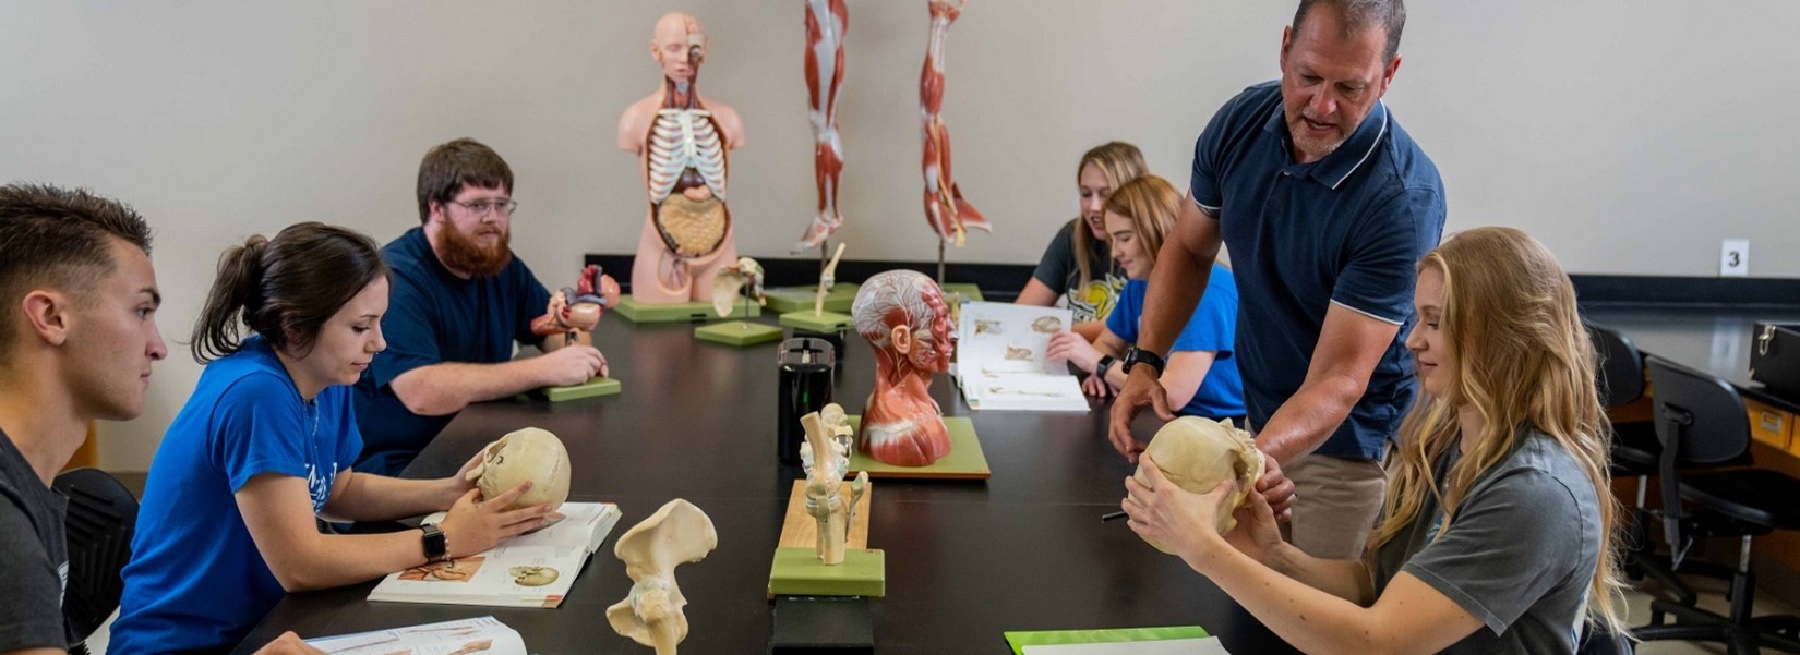
M 362 232 L 297 223 L 274 239 L 252 236 L 220 256 L 212 292 L 194 320 L 194 362 L 243 349 L 250 333 L 288 356 L 306 356 L 331 315 L 362 293 L 387 265 Z

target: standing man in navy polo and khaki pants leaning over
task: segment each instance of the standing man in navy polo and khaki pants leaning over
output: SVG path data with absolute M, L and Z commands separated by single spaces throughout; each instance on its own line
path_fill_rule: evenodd
M 1359 558 L 1381 511 L 1388 441 L 1415 394 L 1413 266 L 1444 232 L 1438 169 L 1381 101 L 1404 25 L 1400 0 L 1300 2 L 1282 79 L 1228 101 L 1193 146 L 1188 203 L 1112 405 L 1112 444 L 1136 461 L 1130 419 L 1145 405 L 1174 417 L 1161 354 L 1224 243 L 1249 425 L 1271 455 L 1258 489 L 1292 509 L 1291 540 L 1319 558 Z

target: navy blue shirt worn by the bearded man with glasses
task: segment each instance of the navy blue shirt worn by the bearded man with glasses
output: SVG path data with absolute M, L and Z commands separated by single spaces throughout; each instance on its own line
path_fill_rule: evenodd
M 551 293 L 517 256 L 499 275 L 455 277 L 419 227 L 382 247 L 382 259 L 392 270 L 382 319 L 387 349 L 356 381 L 356 425 L 364 439 L 356 470 L 398 475 L 455 414 L 412 414 L 394 394 L 394 378 L 443 362 L 509 362 L 513 342 L 544 340 L 531 333 L 531 319 L 544 315 Z

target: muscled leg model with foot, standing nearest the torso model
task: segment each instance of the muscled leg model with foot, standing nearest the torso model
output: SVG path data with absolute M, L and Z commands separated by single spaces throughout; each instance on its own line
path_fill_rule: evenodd
M 844 225 L 837 212 L 837 176 L 844 171 L 844 144 L 837 137 L 837 90 L 844 85 L 844 0 L 806 0 L 806 101 L 812 119 L 812 169 L 819 184 L 819 214 L 794 252 L 819 247 Z

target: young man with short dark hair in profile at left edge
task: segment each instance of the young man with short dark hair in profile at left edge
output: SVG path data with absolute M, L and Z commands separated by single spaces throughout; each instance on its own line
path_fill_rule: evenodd
M 65 509 L 50 480 L 94 419 L 144 410 L 157 331 L 149 227 L 86 191 L 0 187 L 0 653 L 63 653 Z M 319 653 L 286 633 L 261 651 Z

